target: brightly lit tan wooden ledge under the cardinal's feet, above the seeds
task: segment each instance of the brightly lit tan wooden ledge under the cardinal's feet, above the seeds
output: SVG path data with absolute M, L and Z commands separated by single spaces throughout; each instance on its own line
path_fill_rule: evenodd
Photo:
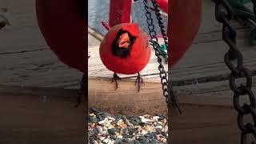
M 159 82 L 145 82 L 138 86 L 129 78 L 118 82 L 118 90 L 111 78 L 89 78 L 88 104 L 112 114 L 166 114 L 166 99 Z

